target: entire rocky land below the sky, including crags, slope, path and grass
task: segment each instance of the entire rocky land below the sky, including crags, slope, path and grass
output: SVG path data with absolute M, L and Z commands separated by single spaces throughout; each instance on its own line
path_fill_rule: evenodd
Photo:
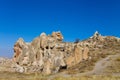
M 119 38 L 95 32 L 67 43 L 60 32 L 41 35 L 31 43 L 20 38 L 13 58 L 0 58 L 0 80 L 120 80 Z

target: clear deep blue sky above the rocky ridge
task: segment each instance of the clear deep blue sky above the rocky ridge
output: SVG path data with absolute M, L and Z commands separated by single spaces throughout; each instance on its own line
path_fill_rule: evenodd
M 58 30 L 64 41 L 96 30 L 120 37 L 120 0 L 0 0 L 0 56 L 11 57 L 19 37 L 30 42 Z

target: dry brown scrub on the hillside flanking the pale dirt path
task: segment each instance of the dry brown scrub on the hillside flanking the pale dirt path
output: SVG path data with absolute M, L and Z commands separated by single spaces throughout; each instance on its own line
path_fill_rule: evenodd
M 83 73 L 83 72 L 91 71 L 94 68 L 95 63 L 97 61 L 99 61 L 103 58 L 106 58 L 109 55 L 116 55 L 116 54 L 120 53 L 119 44 L 120 43 L 116 43 L 116 42 L 108 42 L 108 43 L 105 43 L 102 48 L 95 48 L 95 49 L 90 48 L 90 56 L 92 56 L 92 59 L 89 61 L 79 63 L 77 65 L 74 65 L 73 67 L 71 67 L 67 70 L 68 73 L 75 74 L 75 73 Z M 112 63 L 114 63 L 114 64 L 112 64 L 112 65 L 114 65 L 114 69 L 110 68 L 109 71 L 111 73 L 118 72 L 118 71 L 120 72 L 120 58 L 117 58 Z M 111 71 L 111 70 L 114 70 L 114 71 Z

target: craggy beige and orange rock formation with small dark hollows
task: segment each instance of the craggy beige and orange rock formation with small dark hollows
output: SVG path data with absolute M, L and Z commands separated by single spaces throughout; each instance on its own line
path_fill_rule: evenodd
M 91 59 L 90 49 L 103 48 L 106 42 L 120 42 L 119 38 L 101 36 L 98 32 L 78 43 L 63 42 L 61 32 L 41 33 L 31 43 L 19 38 L 14 45 L 14 70 L 51 74 Z

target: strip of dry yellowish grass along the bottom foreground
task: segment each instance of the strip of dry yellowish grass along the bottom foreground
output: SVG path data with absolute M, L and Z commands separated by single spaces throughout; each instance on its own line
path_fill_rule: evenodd
M 1 74 L 1 73 L 0 73 Z M 63 77 L 58 76 L 53 79 L 50 79 L 49 76 L 41 75 L 38 73 L 35 74 L 20 74 L 20 73 L 3 73 L 4 75 L 1 77 L 0 80 L 120 80 L 120 76 L 69 76 Z

